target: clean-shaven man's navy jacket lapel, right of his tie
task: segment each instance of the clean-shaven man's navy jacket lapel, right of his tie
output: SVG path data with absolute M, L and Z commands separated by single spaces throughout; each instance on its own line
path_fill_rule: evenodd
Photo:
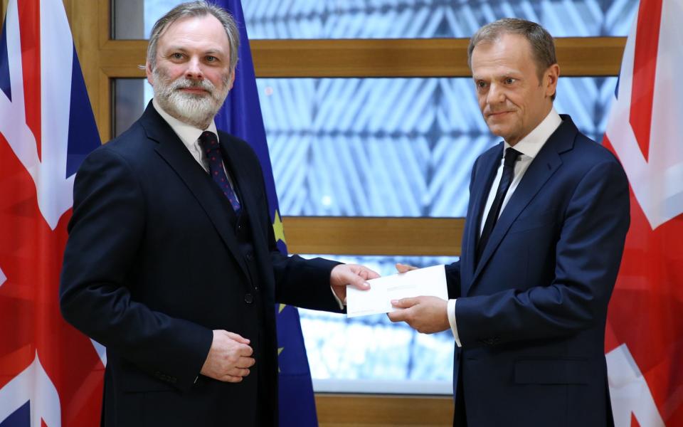
M 477 277 L 482 273 L 500 242 L 507 235 L 507 231 L 514 220 L 524 211 L 531 199 L 536 196 L 556 170 L 561 167 L 560 154 L 573 146 L 573 140 L 578 130 L 568 116 L 562 115 L 561 117 L 563 119 L 562 124 L 541 148 L 539 154 L 529 165 L 529 169 L 526 169 L 517 189 L 515 189 L 498 218 L 470 284 L 475 283 Z M 481 215 L 481 211 L 479 214 Z

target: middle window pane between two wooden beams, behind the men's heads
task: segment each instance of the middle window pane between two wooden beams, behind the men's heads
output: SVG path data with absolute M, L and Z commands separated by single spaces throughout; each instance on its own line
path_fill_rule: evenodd
M 599 142 L 616 80 L 560 78 L 556 110 Z M 257 85 L 285 216 L 465 216 L 472 164 L 499 141 L 470 78 L 269 78 Z M 142 79 L 116 80 L 117 134 L 151 97 Z

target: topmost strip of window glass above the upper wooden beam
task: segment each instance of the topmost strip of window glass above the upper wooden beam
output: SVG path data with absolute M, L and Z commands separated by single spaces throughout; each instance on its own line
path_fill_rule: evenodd
M 147 38 L 181 0 L 115 0 L 115 38 Z M 515 16 L 555 37 L 626 36 L 637 0 L 248 0 L 250 38 L 450 38 Z M 117 19 L 125 16 L 125 19 Z

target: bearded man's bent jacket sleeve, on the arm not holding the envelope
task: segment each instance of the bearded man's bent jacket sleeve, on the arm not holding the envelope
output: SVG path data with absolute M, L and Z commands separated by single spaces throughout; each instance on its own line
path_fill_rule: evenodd
M 194 384 L 213 332 L 131 298 L 127 280 L 144 234 L 144 196 L 120 154 L 100 147 L 74 184 L 73 216 L 60 280 L 65 320 L 180 389 Z

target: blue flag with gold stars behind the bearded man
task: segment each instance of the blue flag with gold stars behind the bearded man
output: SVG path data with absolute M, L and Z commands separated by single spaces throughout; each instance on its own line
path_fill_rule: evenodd
M 263 169 L 275 238 L 280 238 L 277 241 L 277 248 L 282 253 L 287 253 L 242 5 L 239 0 L 218 0 L 215 3 L 233 15 L 240 29 L 235 85 L 223 108 L 216 115 L 216 127 L 244 139 L 256 152 Z M 277 305 L 275 311 L 277 352 L 280 364 L 280 426 L 317 426 L 311 371 L 308 367 L 306 347 L 301 333 L 299 312 L 296 307 L 284 304 Z

